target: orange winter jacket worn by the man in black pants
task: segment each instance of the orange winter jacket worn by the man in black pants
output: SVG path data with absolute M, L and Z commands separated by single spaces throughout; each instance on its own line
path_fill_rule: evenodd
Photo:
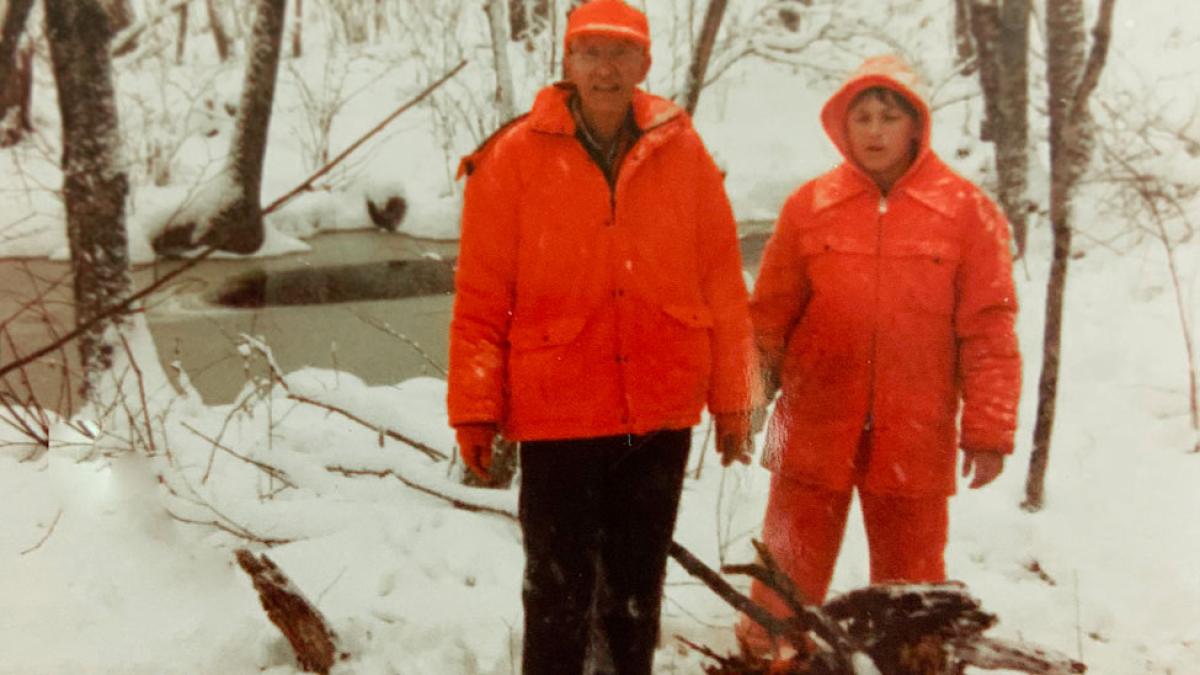
M 464 160 L 450 424 L 512 440 L 682 429 L 750 406 L 733 214 L 688 115 L 637 91 L 610 189 L 565 85 Z

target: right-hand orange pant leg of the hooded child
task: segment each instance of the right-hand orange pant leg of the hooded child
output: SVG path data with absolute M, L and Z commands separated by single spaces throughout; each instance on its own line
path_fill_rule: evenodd
M 864 495 L 863 519 L 871 549 L 871 583 L 946 580 L 948 498 Z

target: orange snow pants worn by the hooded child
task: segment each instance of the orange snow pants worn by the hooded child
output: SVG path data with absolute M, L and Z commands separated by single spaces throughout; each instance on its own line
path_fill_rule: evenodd
M 872 495 L 859 491 L 871 583 L 925 583 L 946 580 L 948 498 L 935 496 Z M 762 539 L 779 566 L 804 595 L 805 603 L 822 604 L 846 528 L 851 492 L 838 492 L 799 483 L 775 473 L 770 480 Z M 784 601 L 758 581 L 750 598 L 775 616 L 788 616 Z M 742 617 L 738 638 L 752 651 L 774 646 L 757 623 Z

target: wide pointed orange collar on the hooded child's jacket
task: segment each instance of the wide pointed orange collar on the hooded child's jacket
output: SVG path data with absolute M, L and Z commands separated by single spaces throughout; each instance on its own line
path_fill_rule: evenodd
M 954 180 L 954 172 L 942 163 L 932 151 L 918 156 L 908 171 L 900 178 L 888 198 L 901 192 L 925 204 L 930 209 L 953 217 L 956 208 L 956 190 L 946 181 Z M 863 169 L 853 162 L 845 161 L 838 168 L 818 178 L 814 185 L 812 210 L 822 211 L 869 192 L 881 198 L 880 187 Z

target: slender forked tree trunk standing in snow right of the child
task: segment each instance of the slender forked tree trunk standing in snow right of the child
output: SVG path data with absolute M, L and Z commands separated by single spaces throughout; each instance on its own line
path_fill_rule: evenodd
M 1046 82 L 1050 88 L 1050 225 L 1054 228 L 1054 258 L 1046 282 L 1045 334 L 1042 377 L 1038 381 L 1038 413 L 1033 428 L 1033 452 L 1025 482 L 1026 510 L 1044 503 L 1045 473 L 1050 461 L 1055 404 L 1058 393 L 1058 364 L 1062 352 L 1063 297 L 1067 265 L 1070 262 L 1072 192 L 1087 168 L 1092 150 L 1092 119 L 1087 100 L 1099 82 L 1108 58 L 1112 26 L 1112 5 L 1102 0 L 1093 29 L 1091 55 L 1085 61 L 1082 0 L 1057 0 L 1046 5 Z

